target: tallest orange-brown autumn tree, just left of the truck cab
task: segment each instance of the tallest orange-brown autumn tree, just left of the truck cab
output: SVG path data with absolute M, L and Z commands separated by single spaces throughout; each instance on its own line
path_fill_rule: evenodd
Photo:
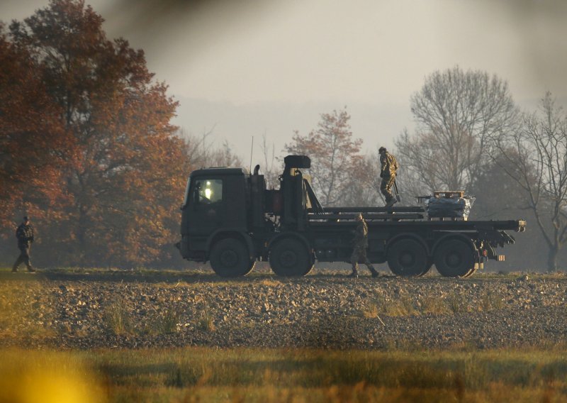
M 49 133 L 57 139 L 50 145 L 73 150 L 73 158 L 54 153 L 61 164 L 40 158 L 60 167 L 53 182 L 67 197 L 39 226 L 44 250 L 57 250 L 51 264 L 143 265 L 174 253 L 178 238 L 189 160 L 169 123 L 176 102 L 147 70 L 142 50 L 108 40 L 102 23 L 82 0 L 51 0 L 9 29 L 11 48 L 30 55 L 47 94 L 45 124 L 54 121 Z M 28 155 L 10 151 L 16 155 L 26 165 Z M 15 186 L 26 194 L 39 180 L 32 172 L 26 186 Z

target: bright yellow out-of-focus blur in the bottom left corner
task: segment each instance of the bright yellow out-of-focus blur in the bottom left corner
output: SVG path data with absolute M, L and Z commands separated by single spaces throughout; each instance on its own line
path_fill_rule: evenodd
M 0 402 L 106 402 L 101 382 L 72 355 L 21 350 L 1 355 Z

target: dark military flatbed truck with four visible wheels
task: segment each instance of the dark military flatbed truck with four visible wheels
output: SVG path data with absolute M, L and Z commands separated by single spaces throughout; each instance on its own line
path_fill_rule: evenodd
M 247 275 L 269 261 L 281 276 L 303 276 L 318 262 L 349 262 L 357 216 L 369 227 L 368 258 L 388 263 L 399 276 L 425 275 L 435 265 L 445 277 L 468 277 L 495 251 L 514 243 L 505 231 L 522 232 L 525 221 L 428 219 L 423 206 L 325 207 L 301 170 L 305 155 L 288 155 L 279 189 L 266 189 L 259 165 L 191 172 L 181 206 L 183 258 L 210 262 L 221 277 Z

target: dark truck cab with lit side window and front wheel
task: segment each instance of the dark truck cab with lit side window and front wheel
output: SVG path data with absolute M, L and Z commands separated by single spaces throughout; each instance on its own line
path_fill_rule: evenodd
M 183 258 L 203 263 L 210 260 L 215 272 L 225 277 L 252 270 L 254 245 L 249 232 L 251 223 L 258 220 L 252 217 L 250 177 L 246 168 L 191 172 L 181 206 L 179 249 Z M 262 176 L 254 182 L 263 180 Z

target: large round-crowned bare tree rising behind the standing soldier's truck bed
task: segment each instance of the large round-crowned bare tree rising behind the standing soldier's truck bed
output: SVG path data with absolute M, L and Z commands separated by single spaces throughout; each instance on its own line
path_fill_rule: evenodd
M 395 140 L 396 156 L 425 191 L 470 189 L 490 138 L 510 131 L 518 116 L 506 82 L 458 66 L 427 77 L 411 110 L 417 129 Z

